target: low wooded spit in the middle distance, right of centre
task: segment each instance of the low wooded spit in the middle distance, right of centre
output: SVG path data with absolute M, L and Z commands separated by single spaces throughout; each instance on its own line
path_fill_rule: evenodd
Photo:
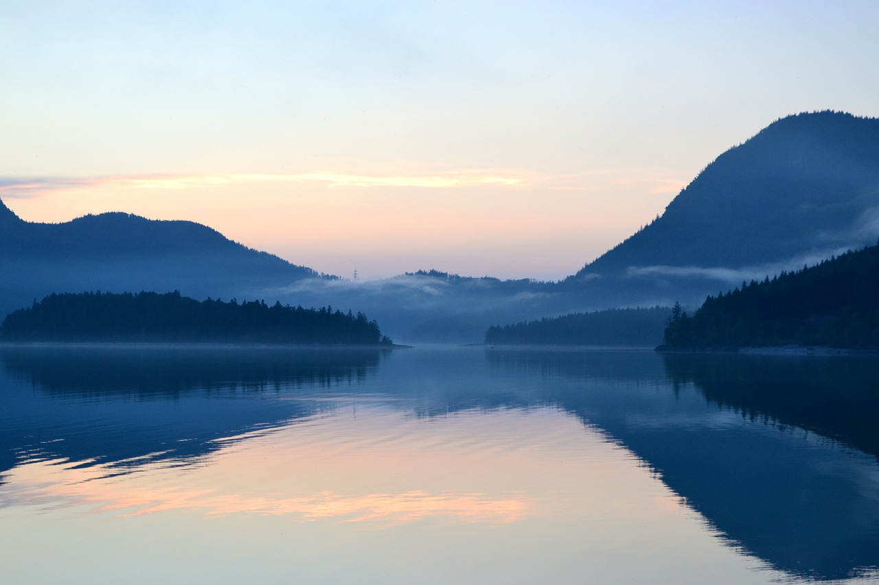
M 671 314 L 669 307 L 638 307 L 544 317 L 490 327 L 485 332 L 485 343 L 652 347 L 662 338 Z

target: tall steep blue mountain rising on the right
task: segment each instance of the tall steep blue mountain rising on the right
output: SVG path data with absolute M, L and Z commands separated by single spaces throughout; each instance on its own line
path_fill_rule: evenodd
M 718 156 L 657 220 L 570 279 L 693 301 L 877 236 L 879 119 L 801 113 Z

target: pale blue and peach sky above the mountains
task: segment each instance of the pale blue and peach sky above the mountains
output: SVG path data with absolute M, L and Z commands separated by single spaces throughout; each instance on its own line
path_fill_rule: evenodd
M 788 114 L 879 117 L 879 3 L 0 0 L 0 199 L 294 264 L 555 280 Z

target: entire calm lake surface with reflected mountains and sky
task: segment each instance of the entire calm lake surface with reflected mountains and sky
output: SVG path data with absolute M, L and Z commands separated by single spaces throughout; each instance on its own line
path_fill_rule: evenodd
M 879 582 L 879 360 L 0 349 L 0 581 Z

